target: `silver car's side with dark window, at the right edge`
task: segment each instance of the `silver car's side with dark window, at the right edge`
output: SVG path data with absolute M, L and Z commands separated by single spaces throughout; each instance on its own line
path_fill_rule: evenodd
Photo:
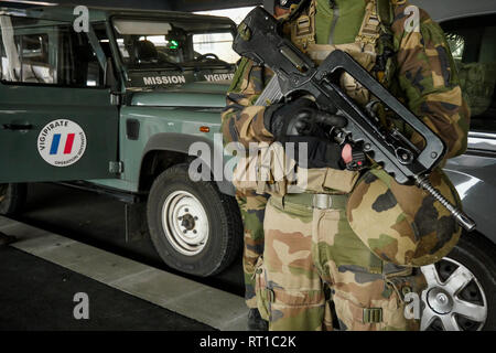
M 471 131 L 465 154 L 448 161 L 464 210 L 477 229 L 493 235 L 496 227 L 496 14 L 442 23 L 455 60 L 461 86 L 471 108 Z M 493 242 L 496 238 L 493 238 Z

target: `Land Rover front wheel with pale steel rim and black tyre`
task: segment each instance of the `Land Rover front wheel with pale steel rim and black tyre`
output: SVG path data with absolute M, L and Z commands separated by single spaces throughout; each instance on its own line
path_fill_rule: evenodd
M 212 276 L 238 255 L 242 224 L 236 200 L 214 182 L 193 182 L 187 164 L 171 167 L 155 179 L 147 216 L 157 252 L 174 269 Z

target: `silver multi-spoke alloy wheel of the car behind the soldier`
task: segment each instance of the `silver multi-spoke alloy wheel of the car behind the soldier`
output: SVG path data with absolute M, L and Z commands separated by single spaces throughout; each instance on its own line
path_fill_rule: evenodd
M 421 267 L 428 282 L 421 329 L 496 330 L 495 258 L 494 244 L 468 234 L 442 260 Z

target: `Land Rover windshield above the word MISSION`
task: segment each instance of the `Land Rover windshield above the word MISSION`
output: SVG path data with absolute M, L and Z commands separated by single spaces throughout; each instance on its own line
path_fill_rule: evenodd
M 116 19 L 114 28 L 128 69 L 230 66 L 239 60 L 229 23 Z

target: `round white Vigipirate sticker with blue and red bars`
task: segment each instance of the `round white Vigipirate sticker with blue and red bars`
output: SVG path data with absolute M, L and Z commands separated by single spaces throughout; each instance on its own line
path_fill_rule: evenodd
M 37 151 L 51 165 L 68 167 L 76 163 L 86 150 L 85 131 L 74 121 L 53 120 L 37 137 Z

